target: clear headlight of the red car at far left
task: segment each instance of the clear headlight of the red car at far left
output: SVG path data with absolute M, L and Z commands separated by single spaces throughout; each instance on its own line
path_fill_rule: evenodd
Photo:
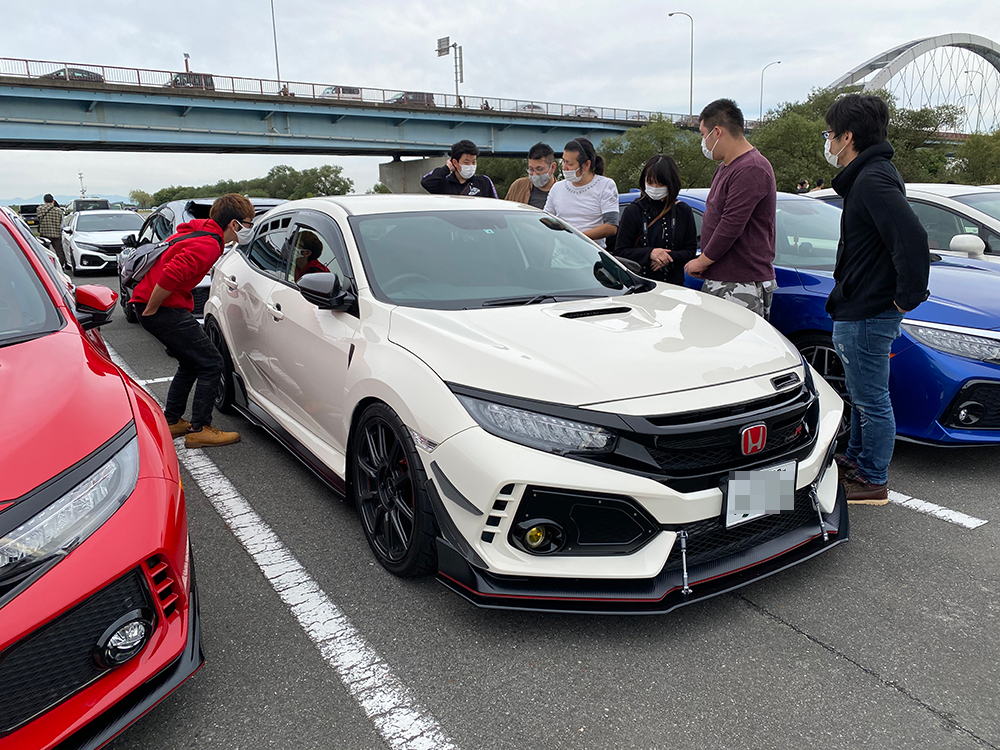
M 138 479 L 134 437 L 76 487 L 0 537 L 0 580 L 76 547 L 121 507 Z

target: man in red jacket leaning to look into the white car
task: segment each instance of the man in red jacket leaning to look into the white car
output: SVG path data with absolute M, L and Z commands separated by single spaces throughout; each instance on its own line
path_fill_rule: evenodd
M 222 248 L 250 240 L 254 209 L 242 195 L 230 193 L 212 204 L 208 219 L 195 219 L 178 227 L 174 237 L 205 232 L 167 248 L 132 293 L 142 327 L 153 334 L 180 362 L 167 393 L 163 413 L 174 437 L 184 435 L 187 448 L 207 448 L 238 443 L 238 432 L 212 426 L 212 407 L 222 376 L 223 360 L 215 344 L 191 314 L 191 290 L 201 281 Z M 195 382 L 197 385 L 195 386 Z M 194 389 L 191 421 L 184 419 L 188 396 Z

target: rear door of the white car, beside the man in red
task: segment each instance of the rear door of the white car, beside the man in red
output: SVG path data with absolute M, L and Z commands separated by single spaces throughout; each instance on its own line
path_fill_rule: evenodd
M 251 396 L 273 401 L 274 379 L 281 368 L 272 363 L 267 345 L 271 293 L 285 277 L 288 258 L 285 240 L 291 217 L 278 216 L 257 227 L 249 244 L 227 253 L 216 265 L 220 294 L 226 297 L 222 325 L 231 347 L 233 364 Z

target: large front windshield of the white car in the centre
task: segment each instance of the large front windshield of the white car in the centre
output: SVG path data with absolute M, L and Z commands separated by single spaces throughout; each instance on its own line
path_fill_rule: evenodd
M 350 223 L 372 291 L 397 305 L 460 310 L 608 297 L 640 281 L 569 225 L 534 211 L 376 214 Z

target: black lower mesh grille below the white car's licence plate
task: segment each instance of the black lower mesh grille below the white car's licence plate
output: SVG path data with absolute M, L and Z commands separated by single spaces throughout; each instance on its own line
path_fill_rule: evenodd
M 688 533 L 688 567 L 691 568 L 700 563 L 712 562 L 713 560 L 735 555 L 752 547 L 765 544 L 772 539 L 777 539 L 782 534 L 806 524 L 815 525 L 816 533 L 819 533 L 819 517 L 816 515 L 816 509 L 813 508 L 811 493 L 811 485 L 796 490 L 795 510 L 793 511 L 762 516 L 753 521 L 747 521 L 739 526 L 734 526 L 731 529 L 726 528 L 721 515 L 677 527 L 677 531 L 683 528 Z M 681 569 L 679 541 L 674 544 L 674 548 L 667 559 L 664 569 Z

